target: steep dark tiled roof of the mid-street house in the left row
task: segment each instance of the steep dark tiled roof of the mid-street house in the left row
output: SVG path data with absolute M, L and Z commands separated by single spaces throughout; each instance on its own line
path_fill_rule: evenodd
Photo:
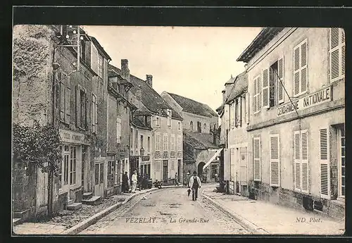
M 108 69 L 115 70 L 115 72 L 121 74 L 120 68 L 116 68 L 111 64 L 108 65 Z M 163 116 L 167 116 L 165 109 L 170 109 L 172 111 L 172 118 L 177 120 L 183 120 L 183 118 L 169 106 L 169 104 L 158 94 L 152 87 L 150 87 L 146 81 L 135 77 L 134 75 L 130 75 L 130 82 L 132 83 L 133 87 L 130 89 L 132 94 L 136 95 L 138 89 L 142 91 L 142 103 L 149 111 L 153 113 L 159 113 Z

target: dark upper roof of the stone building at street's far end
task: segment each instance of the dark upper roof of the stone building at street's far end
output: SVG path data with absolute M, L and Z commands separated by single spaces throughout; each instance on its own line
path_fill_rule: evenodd
M 207 116 L 207 117 L 218 116 L 218 114 L 215 113 L 215 111 L 213 111 L 213 109 L 206 104 L 202 104 L 198 101 L 194 101 L 193 99 L 189 99 L 184 96 L 180 96 L 178 94 L 172 94 L 169 92 L 166 92 L 166 93 L 168 93 L 172 97 L 172 99 L 175 99 L 177 104 L 179 104 L 182 107 L 182 111 L 194 113 L 199 116 Z

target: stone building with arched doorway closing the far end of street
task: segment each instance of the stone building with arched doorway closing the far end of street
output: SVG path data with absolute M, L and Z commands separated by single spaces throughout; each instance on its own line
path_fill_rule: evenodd
M 219 173 L 215 158 L 221 151 L 218 146 L 218 114 L 208 105 L 184 96 L 165 91 L 161 96 L 183 118 L 183 175 L 197 171 L 203 181 L 215 181 L 215 175 Z

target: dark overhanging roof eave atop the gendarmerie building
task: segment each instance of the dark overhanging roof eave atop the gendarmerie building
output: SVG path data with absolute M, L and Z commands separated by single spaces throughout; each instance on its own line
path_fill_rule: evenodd
M 284 30 L 284 27 L 264 27 L 253 42 L 242 52 L 236 61 L 248 63 L 263 47 L 268 44 L 274 37 Z

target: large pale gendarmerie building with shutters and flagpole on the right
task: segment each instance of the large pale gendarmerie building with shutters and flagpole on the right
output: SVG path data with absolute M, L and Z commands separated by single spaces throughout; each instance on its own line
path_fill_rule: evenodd
M 248 64 L 249 191 L 344 217 L 344 30 L 265 27 Z

